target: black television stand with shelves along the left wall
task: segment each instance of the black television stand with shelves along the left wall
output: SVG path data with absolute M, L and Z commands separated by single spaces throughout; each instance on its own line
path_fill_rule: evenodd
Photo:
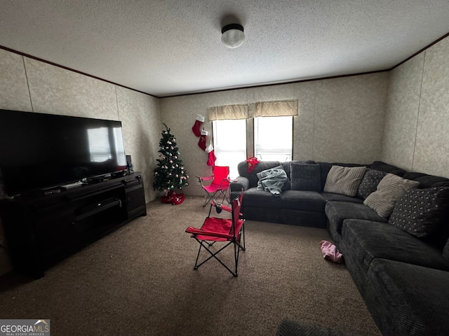
M 0 201 L 13 268 L 34 278 L 43 276 L 55 262 L 146 214 L 138 172 Z

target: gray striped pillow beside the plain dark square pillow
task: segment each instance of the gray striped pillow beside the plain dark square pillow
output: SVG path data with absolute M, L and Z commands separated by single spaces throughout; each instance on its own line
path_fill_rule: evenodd
M 366 167 L 332 166 L 324 185 L 325 193 L 355 196 Z

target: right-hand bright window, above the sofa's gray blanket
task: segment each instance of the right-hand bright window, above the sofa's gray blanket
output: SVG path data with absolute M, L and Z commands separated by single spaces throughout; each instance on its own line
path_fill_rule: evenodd
M 292 160 L 293 117 L 254 118 L 254 156 L 265 161 Z

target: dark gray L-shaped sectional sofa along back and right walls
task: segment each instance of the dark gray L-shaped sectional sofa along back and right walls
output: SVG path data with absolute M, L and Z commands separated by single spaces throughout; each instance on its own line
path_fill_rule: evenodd
M 366 167 L 355 196 L 325 192 L 331 169 L 335 179 L 333 166 Z M 294 181 L 302 179 L 297 167 L 305 183 Z M 231 197 L 243 188 L 246 219 L 327 228 L 382 335 L 449 335 L 449 179 L 380 161 L 262 161 L 253 172 L 240 162 L 238 169 Z M 257 173 L 267 169 L 283 169 L 288 176 L 279 197 L 256 189 Z M 391 194 L 380 186 L 398 176 L 408 189 L 380 216 L 374 201 Z

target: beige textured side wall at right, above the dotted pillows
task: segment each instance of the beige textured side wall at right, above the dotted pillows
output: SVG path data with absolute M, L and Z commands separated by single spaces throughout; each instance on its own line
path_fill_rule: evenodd
M 382 160 L 449 177 L 449 38 L 391 71 Z

